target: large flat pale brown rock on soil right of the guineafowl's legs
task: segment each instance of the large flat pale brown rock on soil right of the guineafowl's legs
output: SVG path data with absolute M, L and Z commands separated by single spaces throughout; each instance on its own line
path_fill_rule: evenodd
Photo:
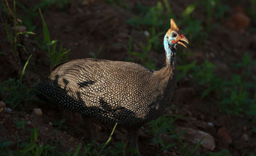
M 208 149 L 208 150 L 214 150 L 215 149 L 215 142 L 212 135 L 203 132 L 201 130 L 195 130 L 193 128 L 184 128 L 184 127 L 178 127 L 175 129 L 176 133 L 181 133 L 182 131 L 186 131 L 183 136 L 181 136 L 182 140 L 186 140 L 188 142 L 191 142 L 193 144 L 197 144 L 201 139 L 203 141 L 201 142 L 201 146 Z

